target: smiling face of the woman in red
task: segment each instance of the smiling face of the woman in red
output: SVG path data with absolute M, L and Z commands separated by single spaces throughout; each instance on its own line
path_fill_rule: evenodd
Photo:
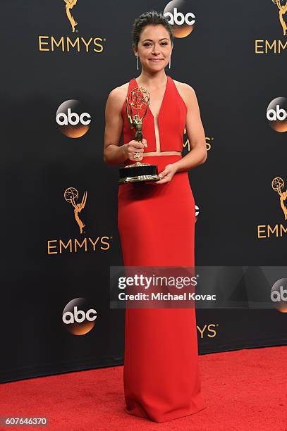
M 138 48 L 134 47 L 134 52 L 139 56 L 142 68 L 153 71 L 166 67 L 171 51 L 169 32 L 161 24 L 146 25 L 140 33 Z

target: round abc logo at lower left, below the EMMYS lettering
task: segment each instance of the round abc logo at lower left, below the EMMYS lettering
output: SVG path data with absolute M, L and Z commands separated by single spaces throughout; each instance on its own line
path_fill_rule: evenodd
M 94 327 L 97 311 L 91 308 L 85 298 L 75 298 L 63 309 L 62 320 L 73 335 L 85 335 Z

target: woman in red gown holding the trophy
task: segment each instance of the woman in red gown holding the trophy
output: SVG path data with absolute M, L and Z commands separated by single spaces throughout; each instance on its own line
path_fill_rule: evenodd
M 172 49 L 164 15 L 140 15 L 133 25 L 133 51 L 141 73 L 113 89 L 106 101 L 105 163 L 155 163 L 161 178 L 118 186 L 125 266 L 195 264 L 195 201 L 188 169 L 204 163 L 207 149 L 193 88 L 165 73 Z M 135 87 L 150 94 L 142 142 L 135 141 L 126 115 L 126 97 Z M 191 150 L 182 157 L 185 126 Z M 195 308 L 126 308 L 123 384 L 125 411 L 157 423 L 205 408 Z

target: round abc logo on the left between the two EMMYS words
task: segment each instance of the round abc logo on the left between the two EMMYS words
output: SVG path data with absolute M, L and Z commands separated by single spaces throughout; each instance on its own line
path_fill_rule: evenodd
M 56 112 L 56 123 L 63 135 L 68 137 L 78 138 L 85 135 L 90 122 L 91 115 L 78 100 L 64 101 Z

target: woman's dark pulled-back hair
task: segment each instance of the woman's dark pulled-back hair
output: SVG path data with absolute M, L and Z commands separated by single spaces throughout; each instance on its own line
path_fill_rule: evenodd
M 169 32 L 169 37 L 171 38 L 171 44 L 173 44 L 173 30 L 169 21 L 164 16 L 163 13 L 157 11 L 149 11 L 142 13 L 138 18 L 136 18 L 133 23 L 132 37 L 133 45 L 138 47 L 138 42 L 140 40 L 140 33 L 146 25 L 163 25 Z

